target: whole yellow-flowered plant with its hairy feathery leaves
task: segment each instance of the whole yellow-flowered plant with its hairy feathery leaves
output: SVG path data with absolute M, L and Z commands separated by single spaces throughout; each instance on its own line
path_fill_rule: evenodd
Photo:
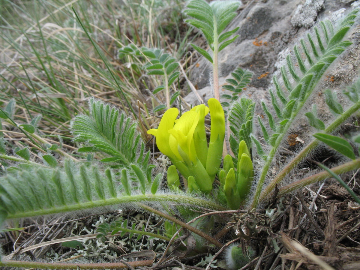
M 218 69 L 217 53 L 236 38 L 229 39 L 237 28 L 222 32 L 236 15 L 238 5 L 237 1 L 207 4 L 193 0 L 185 9 L 185 13 L 194 18 L 188 19 L 188 23 L 202 30 L 213 52 L 211 56 L 194 46 L 213 64 L 214 81 Z M 197 215 L 198 208 L 215 211 L 259 207 L 275 186 L 282 185 L 282 180 L 320 143 L 314 139 L 304 145 L 279 173 L 269 174 L 280 147 L 287 143 L 299 118 L 306 116 L 316 132 L 331 134 L 359 110 L 358 82 L 344 90 L 343 98 L 348 102 L 343 104 L 338 102 L 337 94 L 324 91 L 326 103 L 333 113 L 331 120 L 319 119 L 316 107 L 309 105 L 314 94 L 321 91 L 317 86 L 325 71 L 351 45 L 343 39 L 355 23 L 357 13 L 358 10 L 348 13 L 335 26 L 329 21 L 319 22 L 299 40 L 287 56 L 286 64 L 273 77 L 274 87 L 269 89 L 270 106 L 264 102 L 260 104 L 264 118 L 256 117 L 256 104 L 251 99 L 240 98 L 231 104 L 225 119 L 218 94 L 215 99 L 208 100 L 208 107 L 204 104 L 195 106 L 182 112 L 179 118 L 179 109 L 169 108 L 159 126 L 148 131 L 156 137 L 158 149 L 173 164 L 167 170 L 167 185 L 162 183 L 163 174 L 154 170 L 156 166 L 140 138 L 138 124 L 116 107 L 91 98 L 89 114 L 78 115 L 71 122 L 73 140 L 84 144 L 77 149 L 82 156 L 72 156 L 59 163 L 55 155 L 67 156 L 61 145 L 58 148 L 41 138 L 37 118 L 20 123 L 14 116 L 14 102 L 9 102 L 0 111 L 1 121 L 23 132 L 42 151 L 35 153 L 25 146 L 9 153 L 6 152 L 6 140 L 0 139 L 0 158 L 4 162 L 17 163 L 16 166 L 6 164 L 8 168 L 0 177 L 0 222 L 93 208 L 136 207 L 161 215 L 221 248 L 222 244 L 209 235 L 210 231 L 204 233 L 175 219 L 172 214 L 179 213 L 180 219 L 188 221 Z M 216 93 L 219 87 L 216 82 L 213 85 Z M 205 126 L 208 113 L 210 138 Z M 230 127 L 228 136 L 225 136 L 226 121 Z M 224 146 L 231 155 L 224 154 Z M 30 160 L 35 154 L 42 162 Z M 359 167 L 359 158 L 354 158 L 342 165 L 341 170 L 333 168 L 333 171 L 341 173 Z M 282 186 L 279 194 L 327 176 L 329 174 L 322 174 L 323 178 L 314 175 L 298 180 L 296 185 Z M 126 226 L 125 223 L 104 225 L 103 234 L 107 229 Z M 169 224 L 166 230 L 172 231 L 168 236 L 177 233 L 177 229 Z M 235 252 L 237 250 L 234 249 L 233 256 L 240 256 Z M 3 261 L 1 265 L 12 264 Z

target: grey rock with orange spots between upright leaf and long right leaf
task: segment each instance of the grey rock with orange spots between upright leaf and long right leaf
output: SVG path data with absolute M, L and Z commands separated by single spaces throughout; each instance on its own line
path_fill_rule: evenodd
M 221 76 L 226 77 L 237 67 L 254 72 L 252 86 L 266 88 L 278 53 L 287 47 L 297 29 L 290 24 L 293 10 L 300 0 L 249 1 L 246 8 L 235 18 L 230 29 L 240 27 L 240 37 L 219 55 Z M 198 61 L 190 80 L 201 89 L 210 85 L 210 64 L 206 59 Z

